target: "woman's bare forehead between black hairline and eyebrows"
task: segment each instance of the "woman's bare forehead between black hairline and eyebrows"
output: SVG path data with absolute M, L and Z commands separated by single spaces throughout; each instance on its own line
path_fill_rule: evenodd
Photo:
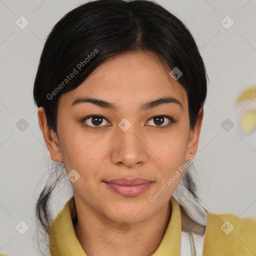
M 65 105 L 82 96 L 105 99 L 120 107 L 132 107 L 163 96 L 178 99 L 184 107 L 187 95 L 184 87 L 169 75 L 152 52 L 138 51 L 108 58 L 74 90 L 61 95 Z

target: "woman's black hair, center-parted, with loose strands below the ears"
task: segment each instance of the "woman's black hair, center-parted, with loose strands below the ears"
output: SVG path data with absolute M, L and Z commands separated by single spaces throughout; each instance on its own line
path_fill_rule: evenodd
M 206 98 L 205 66 L 185 24 L 149 0 L 89 1 L 66 13 L 53 26 L 33 87 L 34 102 L 37 107 L 44 107 L 48 127 L 57 135 L 58 98 L 63 93 L 79 86 L 108 58 L 137 51 L 153 52 L 170 69 L 181 70 L 178 81 L 187 93 L 192 129 Z M 75 71 L 72 79 L 66 78 Z M 47 182 L 36 202 L 36 219 L 47 234 L 52 221 L 49 200 L 60 176 Z M 188 172 L 184 171 L 181 185 L 197 200 Z

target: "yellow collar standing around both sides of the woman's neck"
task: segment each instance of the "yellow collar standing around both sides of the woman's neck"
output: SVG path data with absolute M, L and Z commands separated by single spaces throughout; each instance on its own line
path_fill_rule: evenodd
M 154 256 L 179 255 L 181 215 L 177 201 L 170 197 L 171 216 L 164 236 Z M 74 197 L 71 197 L 50 225 L 49 248 L 51 256 L 87 256 L 79 243 L 73 226 L 76 218 Z

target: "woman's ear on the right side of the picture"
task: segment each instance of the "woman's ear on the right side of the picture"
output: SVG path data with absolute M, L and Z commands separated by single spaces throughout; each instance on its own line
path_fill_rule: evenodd
M 196 154 L 198 142 L 199 142 L 199 134 L 202 124 L 203 111 L 202 108 L 199 109 L 198 119 L 193 129 L 190 129 L 189 138 L 186 149 L 186 157 L 185 161 L 189 161 L 193 158 L 193 155 Z

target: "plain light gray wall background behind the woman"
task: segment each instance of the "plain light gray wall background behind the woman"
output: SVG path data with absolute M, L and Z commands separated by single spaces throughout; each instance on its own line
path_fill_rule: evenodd
M 33 248 L 34 205 L 51 160 L 32 101 L 33 80 L 46 35 L 63 14 L 83 2 L 0 0 L 0 251 L 7 254 L 38 255 Z M 243 134 L 239 126 L 244 111 L 256 109 L 256 100 L 235 104 L 244 89 L 255 86 L 256 1 L 156 2 L 187 25 L 210 80 L 201 155 L 194 162 L 202 204 L 214 213 L 256 218 L 255 129 Z M 15 23 L 21 15 L 29 21 L 24 29 Z M 234 21 L 229 29 L 221 24 L 226 15 Z M 21 118 L 28 123 L 23 131 L 16 126 Z M 221 127 L 226 118 L 234 124 L 228 131 Z M 71 196 L 65 183 L 52 198 L 54 216 Z M 21 220 L 29 226 L 24 234 L 15 228 Z

